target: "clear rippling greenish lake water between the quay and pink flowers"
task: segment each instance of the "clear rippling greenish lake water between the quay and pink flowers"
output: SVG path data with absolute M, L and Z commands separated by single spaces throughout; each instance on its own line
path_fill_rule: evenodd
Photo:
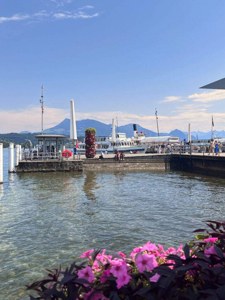
M 7 156 L 4 149 L 4 300 L 28 299 L 25 284 L 85 250 L 130 253 L 148 240 L 177 246 L 205 227 L 201 220 L 224 218 L 224 179 L 170 170 L 8 174 Z

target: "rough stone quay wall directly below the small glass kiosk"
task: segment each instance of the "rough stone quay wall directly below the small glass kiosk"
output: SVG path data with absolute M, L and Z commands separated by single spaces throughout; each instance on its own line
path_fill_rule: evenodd
M 19 161 L 16 173 L 76 172 L 83 170 L 83 161 Z

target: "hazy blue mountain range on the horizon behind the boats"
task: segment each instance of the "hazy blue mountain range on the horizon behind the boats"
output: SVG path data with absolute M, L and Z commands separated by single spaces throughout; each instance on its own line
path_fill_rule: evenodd
M 97 136 L 108 136 L 111 133 L 111 127 L 112 124 L 104 124 L 102 122 L 91 120 L 91 119 L 85 119 L 76 121 L 76 133 L 77 136 L 84 136 L 85 135 L 85 129 L 88 127 L 95 128 L 97 131 Z M 126 134 L 127 137 L 133 136 L 133 123 L 127 124 L 123 126 L 116 127 L 116 132 L 123 132 Z M 157 132 L 154 132 L 152 130 L 146 129 L 140 125 L 137 124 L 137 131 L 142 131 L 143 133 L 146 133 L 146 137 L 156 137 L 158 136 Z M 70 119 L 64 119 L 61 123 L 58 125 L 44 130 L 44 134 L 64 134 L 64 135 L 70 135 Z M 167 132 L 161 132 L 159 133 L 161 137 L 163 136 L 176 136 L 179 137 L 181 140 L 186 139 L 187 140 L 187 132 L 182 132 L 179 129 L 175 129 L 173 131 Z M 195 136 L 191 136 L 192 139 L 195 139 Z

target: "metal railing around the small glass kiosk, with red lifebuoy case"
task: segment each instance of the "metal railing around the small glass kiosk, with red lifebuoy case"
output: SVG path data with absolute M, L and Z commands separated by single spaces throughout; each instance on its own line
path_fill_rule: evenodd
M 21 161 L 50 161 L 50 160 L 68 160 L 73 159 L 72 156 L 68 156 L 68 153 L 66 153 L 66 156 L 63 156 L 61 152 L 52 152 L 52 153 L 38 153 L 35 151 L 30 152 L 29 150 L 25 150 L 25 152 L 21 153 Z M 75 159 L 80 159 L 80 152 L 77 152 L 75 154 Z

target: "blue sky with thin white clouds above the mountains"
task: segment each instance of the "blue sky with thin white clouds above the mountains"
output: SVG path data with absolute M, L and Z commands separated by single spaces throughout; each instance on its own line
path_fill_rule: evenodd
M 156 130 L 224 129 L 225 1 L 2 0 L 0 133 L 69 116 Z

